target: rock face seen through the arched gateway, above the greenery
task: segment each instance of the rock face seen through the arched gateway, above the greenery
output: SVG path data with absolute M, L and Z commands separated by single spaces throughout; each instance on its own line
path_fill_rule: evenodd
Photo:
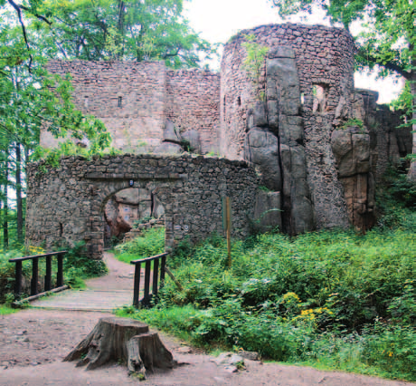
M 115 246 L 146 234 L 147 229 L 165 227 L 165 208 L 147 188 L 124 188 L 104 205 L 104 246 Z

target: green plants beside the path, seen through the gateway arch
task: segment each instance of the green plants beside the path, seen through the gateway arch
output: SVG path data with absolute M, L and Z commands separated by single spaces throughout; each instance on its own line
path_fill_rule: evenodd
M 143 231 L 131 241 L 119 244 L 114 249 L 118 260 L 129 263 L 132 260 L 155 256 L 165 252 L 165 227 L 154 227 Z

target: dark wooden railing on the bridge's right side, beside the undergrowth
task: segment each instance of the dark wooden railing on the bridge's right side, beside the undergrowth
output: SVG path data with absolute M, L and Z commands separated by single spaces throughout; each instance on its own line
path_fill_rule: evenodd
M 135 282 L 133 289 L 133 305 L 135 307 L 138 307 L 140 304 L 148 307 L 152 297 L 156 297 L 158 290 L 165 284 L 165 267 L 167 255 L 169 254 L 166 252 L 161 255 L 133 260 L 130 262 L 130 264 L 135 265 Z M 145 264 L 145 287 L 143 291 L 143 298 L 140 299 L 140 275 L 142 263 Z M 150 276 L 152 271 L 152 291 L 150 292 Z

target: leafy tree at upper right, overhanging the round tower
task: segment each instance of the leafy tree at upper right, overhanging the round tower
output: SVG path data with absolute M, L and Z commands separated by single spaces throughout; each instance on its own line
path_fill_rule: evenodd
M 361 21 L 364 32 L 355 37 L 359 67 L 382 68 L 381 75 L 401 75 L 411 87 L 413 159 L 416 157 L 416 5 L 411 0 L 271 0 L 279 14 L 311 13 L 312 5 L 326 11 L 333 23 L 351 28 Z M 409 175 L 416 179 L 416 160 Z

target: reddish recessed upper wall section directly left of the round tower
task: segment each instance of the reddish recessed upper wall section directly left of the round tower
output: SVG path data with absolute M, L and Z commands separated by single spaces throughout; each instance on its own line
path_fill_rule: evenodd
M 166 118 L 181 133 L 197 130 L 202 153 L 218 150 L 220 80 L 219 73 L 199 69 L 166 72 Z

